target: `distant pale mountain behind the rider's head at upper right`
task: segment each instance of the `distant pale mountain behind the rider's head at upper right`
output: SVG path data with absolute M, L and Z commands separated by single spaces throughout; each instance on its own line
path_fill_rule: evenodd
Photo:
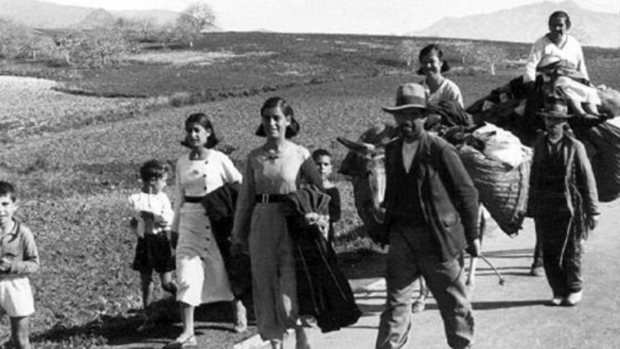
M 581 44 L 599 47 L 620 47 L 620 17 L 617 13 L 588 11 L 574 1 L 549 1 L 507 10 L 461 18 L 446 17 L 408 35 L 423 37 L 454 37 L 510 42 L 534 42 L 545 35 L 547 20 L 553 11 L 569 13 L 573 26 L 569 34 Z

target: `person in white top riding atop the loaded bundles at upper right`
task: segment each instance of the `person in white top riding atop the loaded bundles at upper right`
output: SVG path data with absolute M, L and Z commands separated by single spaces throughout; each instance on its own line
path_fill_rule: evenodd
M 581 78 L 590 80 L 581 44 L 568 34 L 570 28 L 571 19 L 568 13 L 555 11 L 549 16 L 549 32 L 534 42 L 526 63 L 523 82 L 535 81 L 538 68 L 561 60 L 573 65 L 574 71 L 581 75 Z M 560 87 L 569 98 L 571 107 L 578 116 L 597 115 L 597 104 L 601 104 L 596 88 L 586 82 L 587 85 L 567 76 L 559 76 L 554 81 L 554 85 Z

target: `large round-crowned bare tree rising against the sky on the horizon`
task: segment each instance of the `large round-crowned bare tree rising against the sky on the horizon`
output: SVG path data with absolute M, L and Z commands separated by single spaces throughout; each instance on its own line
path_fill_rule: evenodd
M 176 23 L 176 32 L 180 38 L 194 47 L 194 40 L 205 30 L 216 27 L 216 15 L 211 6 L 198 2 L 183 10 Z

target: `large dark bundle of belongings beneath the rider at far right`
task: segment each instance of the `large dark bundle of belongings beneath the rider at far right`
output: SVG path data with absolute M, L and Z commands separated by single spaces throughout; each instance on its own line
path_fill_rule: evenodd
M 568 98 L 562 88 L 554 85 L 558 78 L 574 79 L 594 87 L 579 76 L 565 61 L 557 61 L 539 68 L 535 82 L 524 84 L 516 78 L 507 85 L 492 90 L 488 96 L 469 106 L 474 122 L 488 121 L 511 131 L 524 145 L 531 145 L 541 130 L 543 118 L 537 116 L 548 94 L 560 94 Z M 575 137 L 584 143 L 597 180 L 601 202 L 611 202 L 620 197 L 620 128 L 615 125 L 620 116 L 620 92 L 604 85 L 595 87 L 601 104 L 599 115 L 569 118 L 569 126 Z

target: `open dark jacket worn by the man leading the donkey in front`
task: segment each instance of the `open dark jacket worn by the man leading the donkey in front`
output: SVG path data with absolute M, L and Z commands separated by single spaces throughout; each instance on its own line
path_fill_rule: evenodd
M 385 147 L 385 214 L 386 224 L 393 223 L 390 212 L 397 211 L 397 192 L 417 190 L 423 221 L 428 224 L 435 249 L 430 255 L 441 260 L 458 257 L 478 232 L 478 190 L 473 186 L 456 149 L 450 143 L 426 132 L 411 164 L 417 185 L 397 188 L 395 176 L 402 165 L 402 138 Z

